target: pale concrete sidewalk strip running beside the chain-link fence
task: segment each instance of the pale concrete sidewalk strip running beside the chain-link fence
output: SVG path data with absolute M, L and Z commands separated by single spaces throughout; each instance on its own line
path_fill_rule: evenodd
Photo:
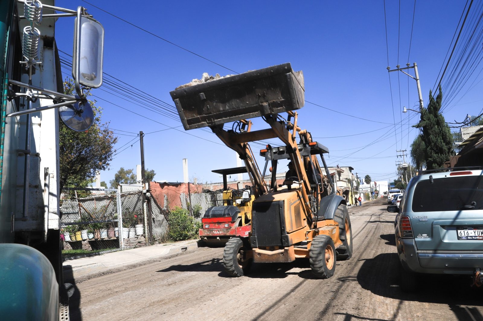
M 203 246 L 203 245 L 201 245 Z M 199 240 L 155 244 L 135 249 L 110 252 L 64 261 L 64 271 L 70 270 L 72 277 L 79 278 L 126 267 L 158 257 L 182 253 L 200 247 Z

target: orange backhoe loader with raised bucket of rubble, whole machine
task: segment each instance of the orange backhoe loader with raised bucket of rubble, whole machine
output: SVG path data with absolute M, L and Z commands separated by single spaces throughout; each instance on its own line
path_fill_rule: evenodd
M 327 147 L 314 142 L 298 124 L 294 110 L 304 104 L 302 72 L 293 71 L 286 63 L 192 82 L 170 94 L 185 130 L 210 127 L 245 162 L 253 184 L 251 234 L 227 241 L 223 252 L 226 272 L 240 277 L 248 273 L 252 262 L 309 258 L 317 278 L 331 277 L 336 261 L 352 256 L 351 221 L 347 203 L 336 194 L 327 168 Z M 286 119 L 282 113 L 287 114 Z M 252 118 L 263 120 L 267 128 L 252 131 Z M 225 129 L 224 124 L 230 122 L 231 129 Z M 260 150 L 265 159 L 260 171 L 248 143 L 273 138 L 280 140 L 280 146 L 267 144 Z M 278 161 L 285 159 L 292 161 L 297 174 L 277 185 Z M 265 182 L 269 163 L 271 180 Z

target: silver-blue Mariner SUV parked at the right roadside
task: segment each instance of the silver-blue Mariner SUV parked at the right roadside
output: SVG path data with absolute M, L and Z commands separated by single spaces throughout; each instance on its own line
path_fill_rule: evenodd
M 413 177 L 396 216 L 401 289 L 414 291 L 420 273 L 468 274 L 481 284 L 483 171 L 478 167 L 424 171 Z

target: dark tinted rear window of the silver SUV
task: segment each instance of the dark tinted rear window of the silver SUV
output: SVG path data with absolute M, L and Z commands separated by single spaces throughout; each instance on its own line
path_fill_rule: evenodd
M 412 194 L 412 212 L 460 211 L 483 209 L 483 177 L 435 178 L 417 183 Z

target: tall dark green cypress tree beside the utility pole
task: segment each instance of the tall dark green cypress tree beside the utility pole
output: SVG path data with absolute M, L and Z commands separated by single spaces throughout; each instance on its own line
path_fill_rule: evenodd
M 416 128 L 422 128 L 421 138 L 426 146 L 425 160 L 428 170 L 443 167 L 443 163 L 453 154 L 453 136 L 443 115 L 440 114 L 442 99 L 441 85 L 436 99 L 429 91 L 429 104 L 427 108 L 421 109 L 421 120 L 414 125 Z

